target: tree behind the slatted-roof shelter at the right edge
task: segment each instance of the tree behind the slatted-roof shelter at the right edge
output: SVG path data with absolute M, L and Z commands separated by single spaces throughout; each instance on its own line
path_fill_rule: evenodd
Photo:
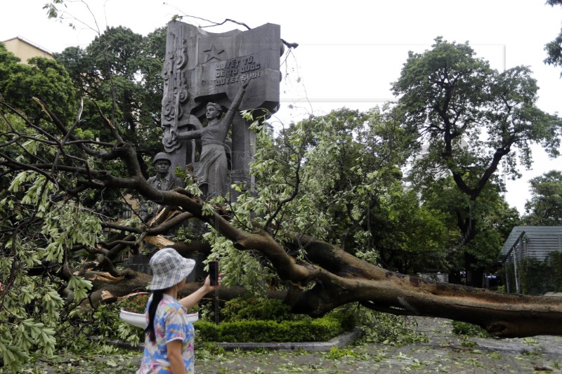
M 549 171 L 532 178 L 529 184 L 532 197 L 525 203 L 525 225 L 562 225 L 562 173 Z

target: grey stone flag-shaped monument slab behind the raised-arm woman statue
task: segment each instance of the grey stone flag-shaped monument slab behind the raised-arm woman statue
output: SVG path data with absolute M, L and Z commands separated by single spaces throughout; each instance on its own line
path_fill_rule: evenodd
M 196 133 L 204 128 L 202 120 L 209 102 L 216 105 L 216 112 L 233 109 L 231 141 L 220 140 L 228 171 L 220 186 L 216 180 L 212 185 L 209 181 L 200 181 L 210 189 L 208 196 L 224 194 L 228 186 L 236 182 L 251 185 L 249 164 L 254 156 L 256 137 L 239 112 L 244 109 L 261 109 L 262 113 L 277 111 L 282 51 L 278 25 L 211 33 L 177 20 L 169 23 L 162 69 L 162 143 L 169 154 L 171 170 L 191 164 L 196 175 L 208 175 L 207 171 L 199 170 L 209 167 L 209 163 L 200 162 L 204 160 L 204 138 Z M 233 108 L 242 86 L 247 86 L 246 92 Z M 212 123 L 218 117 L 207 119 Z M 188 135 L 190 131 L 194 134 Z M 230 199 L 233 200 L 233 196 Z

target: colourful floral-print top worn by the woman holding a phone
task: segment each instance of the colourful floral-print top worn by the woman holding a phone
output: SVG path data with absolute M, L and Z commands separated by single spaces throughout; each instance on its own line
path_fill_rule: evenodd
M 148 306 L 152 296 L 147 303 L 146 319 L 148 323 Z M 151 342 L 146 334 L 145 352 L 141 368 L 137 374 L 171 373 L 170 362 L 166 350 L 166 344 L 172 340 L 181 340 L 181 355 L 188 373 L 195 373 L 195 347 L 194 329 L 185 309 L 176 298 L 164 293 L 162 301 L 156 309 L 154 330 L 156 341 Z

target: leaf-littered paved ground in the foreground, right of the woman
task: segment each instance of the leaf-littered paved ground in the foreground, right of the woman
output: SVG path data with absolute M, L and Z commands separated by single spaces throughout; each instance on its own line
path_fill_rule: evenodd
M 562 373 L 562 337 L 471 338 L 451 333 L 450 321 L 417 318 L 427 343 L 372 344 L 338 352 L 228 353 L 199 359 L 198 373 Z

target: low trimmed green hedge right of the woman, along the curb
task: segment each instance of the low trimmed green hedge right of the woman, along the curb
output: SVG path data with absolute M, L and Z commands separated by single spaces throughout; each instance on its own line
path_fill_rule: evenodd
M 246 320 L 221 322 L 218 325 L 197 321 L 197 335 L 215 342 L 318 342 L 334 338 L 343 331 L 341 323 L 331 316 L 307 317 L 299 321 Z

